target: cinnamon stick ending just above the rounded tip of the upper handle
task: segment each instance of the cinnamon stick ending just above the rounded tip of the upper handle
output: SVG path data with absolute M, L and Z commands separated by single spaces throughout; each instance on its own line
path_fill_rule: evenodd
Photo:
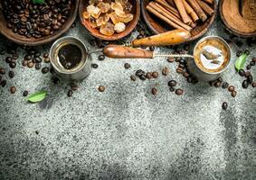
M 188 26 L 185 23 L 181 22 L 177 17 L 175 17 L 174 14 L 171 14 L 170 12 L 168 12 L 165 9 L 165 7 L 163 7 L 161 4 L 157 4 L 157 3 L 152 3 L 151 2 L 148 5 L 150 5 L 154 9 L 156 9 L 156 11 L 158 13 L 165 15 L 172 22 L 174 22 L 174 23 L 180 25 L 181 27 L 183 27 L 185 30 L 187 30 L 187 31 L 191 31 L 192 30 L 192 28 L 190 26 Z

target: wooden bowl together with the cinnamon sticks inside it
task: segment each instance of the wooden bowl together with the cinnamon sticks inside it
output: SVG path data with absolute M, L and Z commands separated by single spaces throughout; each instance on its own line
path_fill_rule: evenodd
M 155 34 L 185 29 L 196 40 L 213 24 L 217 12 L 216 0 L 142 0 L 142 15 Z

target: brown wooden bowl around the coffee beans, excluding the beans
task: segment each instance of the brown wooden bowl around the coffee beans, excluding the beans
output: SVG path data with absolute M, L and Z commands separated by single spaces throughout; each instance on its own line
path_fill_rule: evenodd
M 42 38 L 26 38 L 25 36 L 19 35 L 18 33 L 14 33 L 11 29 L 6 27 L 5 17 L 2 14 L 0 8 L 0 32 L 5 35 L 5 37 L 9 40 L 14 41 L 15 43 L 26 45 L 26 46 L 37 46 L 43 45 L 52 40 L 56 40 L 59 38 L 64 32 L 68 31 L 71 28 L 72 23 L 76 19 L 76 15 L 78 12 L 78 5 L 80 0 L 73 0 L 74 3 L 71 4 L 71 14 L 68 20 L 59 31 L 54 32 L 52 35 L 42 37 Z M 1 3 L 1 0 L 0 0 Z

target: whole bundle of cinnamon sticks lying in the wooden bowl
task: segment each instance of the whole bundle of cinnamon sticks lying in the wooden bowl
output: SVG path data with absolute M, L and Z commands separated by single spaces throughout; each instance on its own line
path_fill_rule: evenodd
M 147 11 L 174 29 L 192 31 L 197 23 L 214 14 L 214 0 L 155 0 L 147 4 Z

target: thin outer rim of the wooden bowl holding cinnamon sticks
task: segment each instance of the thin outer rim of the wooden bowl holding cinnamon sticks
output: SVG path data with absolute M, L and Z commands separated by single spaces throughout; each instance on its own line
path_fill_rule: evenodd
M 148 14 L 148 13 L 147 13 L 147 10 L 146 10 L 145 8 L 143 8 L 143 7 L 144 7 L 144 0 L 141 0 L 141 2 L 142 2 L 142 3 L 141 3 L 142 16 L 143 16 L 144 21 L 147 23 L 147 27 L 149 28 L 150 31 L 154 32 L 155 34 L 158 34 L 159 31 L 156 31 L 155 28 L 153 28 L 151 25 L 148 25 L 148 24 L 151 24 L 151 23 L 150 23 L 150 22 L 148 21 L 148 19 L 147 19 L 147 15 L 146 15 L 146 14 Z M 214 10 L 214 14 L 211 16 L 210 21 L 209 21 L 209 23 L 207 24 L 207 26 L 204 28 L 204 30 L 201 31 L 200 33 L 198 33 L 197 35 L 192 36 L 191 38 L 189 38 L 189 39 L 186 40 L 185 42 L 189 42 L 189 41 L 192 41 L 192 40 L 196 40 L 196 39 L 202 37 L 202 36 L 209 30 L 209 28 L 211 27 L 211 25 L 213 24 L 213 22 L 214 22 L 214 20 L 215 20 L 215 18 L 216 18 L 216 16 L 217 16 L 217 7 L 218 7 L 218 4 L 217 4 L 217 1 L 216 1 L 216 0 L 214 0 L 213 5 L 214 5 L 214 9 L 213 9 L 213 10 Z M 182 42 L 182 43 L 185 43 L 185 42 Z M 182 43 L 179 43 L 179 44 L 182 44 Z

